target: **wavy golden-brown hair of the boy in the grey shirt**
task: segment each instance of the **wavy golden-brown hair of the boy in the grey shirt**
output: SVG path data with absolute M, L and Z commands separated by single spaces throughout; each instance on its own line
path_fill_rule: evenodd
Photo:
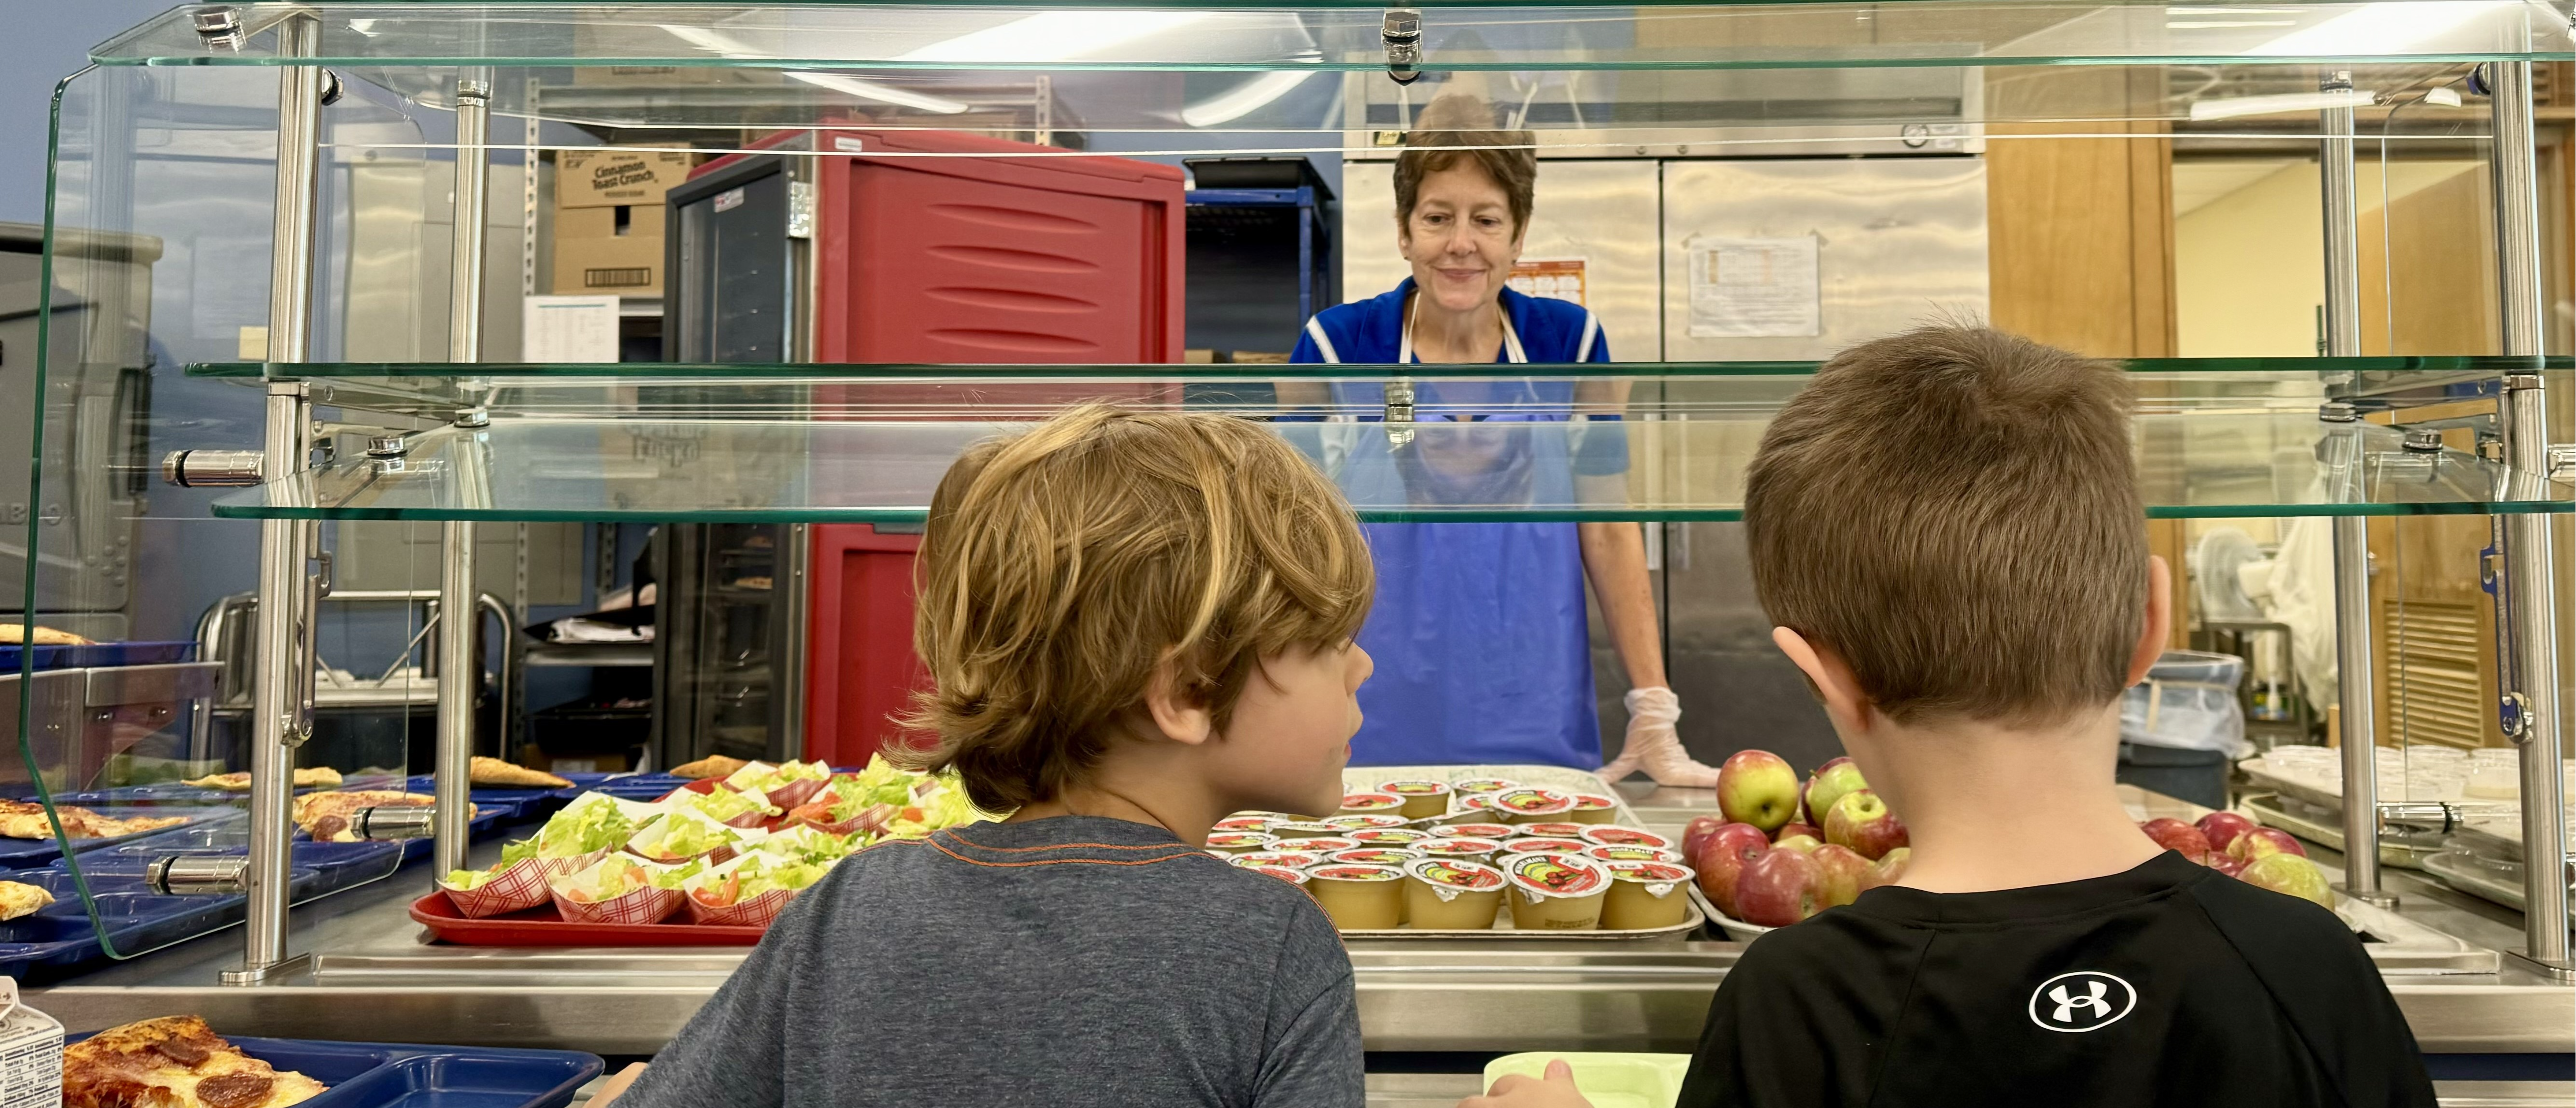
M 1376 575 L 1340 490 L 1262 423 L 1084 405 L 966 451 L 930 500 L 904 719 L 987 812 L 1077 783 L 1162 662 L 1224 732 L 1265 657 L 1340 647 Z

